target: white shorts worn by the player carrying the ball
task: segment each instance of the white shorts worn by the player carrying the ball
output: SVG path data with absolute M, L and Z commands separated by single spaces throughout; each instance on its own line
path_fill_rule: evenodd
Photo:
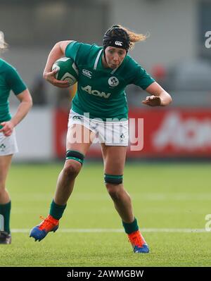
M 103 121 L 87 118 L 84 115 L 75 113 L 70 110 L 68 128 L 74 124 L 84 125 L 87 129 L 96 134 L 98 141 L 104 143 L 107 146 L 128 146 L 129 132 L 128 132 L 128 120 L 124 121 Z

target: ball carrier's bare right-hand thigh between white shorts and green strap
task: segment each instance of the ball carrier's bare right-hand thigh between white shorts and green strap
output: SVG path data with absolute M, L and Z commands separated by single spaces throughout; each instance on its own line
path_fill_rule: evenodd
M 122 175 L 127 153 L 127 146 L 106 146 L 101 144 L 104 173 L 108 175 Z

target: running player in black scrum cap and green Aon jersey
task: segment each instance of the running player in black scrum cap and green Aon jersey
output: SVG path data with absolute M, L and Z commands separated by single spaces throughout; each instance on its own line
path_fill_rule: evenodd
M 56 70 L 51 71 L 53 63 L 63 56 L 74 59 L 79 78 L 77 93 L 70 110 L 65 165 L 58 177 L 49 216 L 30 232 L 30 237 L 34 237 L 35 241 L 41 241 L 48 232 L 58 229 L 58 222 L 72 193 L 75 177 L 97 135 L 103 154 L 104 182 L 122 219 L 134 253 L 149 252 L 148 244 L 143 239 L 134 217 L 132 201 L 123 186 L 129 139 L 124 88 L 134 84 L 146 90 L 150 95 L 142 102 L 147 106 L 167 106 L 172 99 L 127 54 L 135 42 L 144 39 L 144 35 L 136 34 L 120 25 L 113 25 L 103 37 L 103 46 L 75 41 L 62 41 L 53 46 L 44 69 L 44 78 L 57 87 L 68 87 L 68 82 L 56 80 Z

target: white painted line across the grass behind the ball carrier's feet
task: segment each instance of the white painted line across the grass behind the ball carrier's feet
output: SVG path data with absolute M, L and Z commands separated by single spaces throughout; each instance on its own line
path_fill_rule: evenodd
M 13 229 L 11 230 L 11 232 L 13 233 L 27 233 L 30 232 L 29 229 Z M 60 229 L 59 232 L 64 232 L 64 233 L 68 233 L 68 232 L 101 232 L 101 233 L 112 233 L 112 232 L 124 232 L 124 230 L 122 228 L 63 228 Z M 179 233 L 191 233 L 191 232 L 207 232 L 204 228 L 198 228 L 198 229 L 191 229 L 191 228 L 142 228 L 141 232 L 179 232 Z

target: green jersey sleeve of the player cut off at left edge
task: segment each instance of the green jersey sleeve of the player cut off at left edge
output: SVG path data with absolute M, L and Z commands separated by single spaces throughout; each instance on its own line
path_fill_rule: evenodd
M 25 85 L 25 82 L 23 82 L 18 71 L 11 65 L 8 65 L 6 69 L 6 83 L 8 87 L 13 90 L 15 95 L 18 95 L 27 89 L 27 86 Z

